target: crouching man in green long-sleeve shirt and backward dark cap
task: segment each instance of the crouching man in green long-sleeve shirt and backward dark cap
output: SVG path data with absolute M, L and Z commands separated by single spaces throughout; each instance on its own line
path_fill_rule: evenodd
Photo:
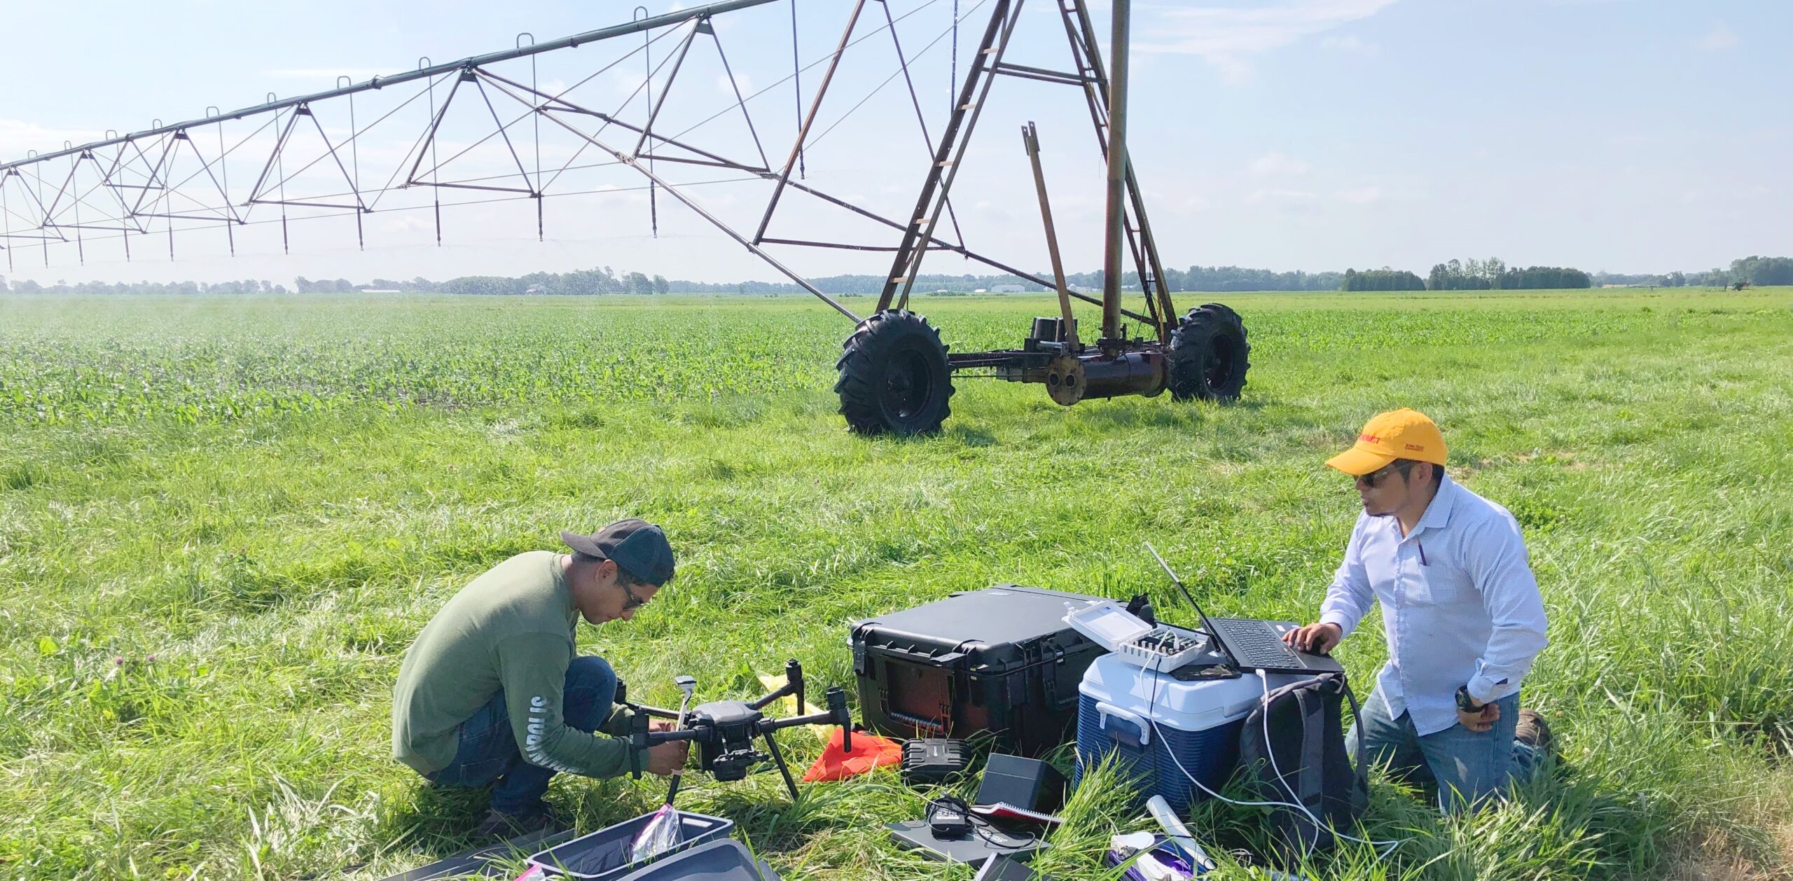
M 642 520 L 561 540 L 572 554 L 522 553 L 461 589 L 398 671 L 393 757 L 437 786 L 491 784 L 479 834 L 550 825 L 541 795 L 558 772 L 615 777 L 635 761 L 620 737 L 629 711 L 611 705 L 617 673 L 576 655 L 576 628 L 635 617 L 672 578 L 672 547 Z M 685 754 L 663 743 L 640 763 L 665 775 Z

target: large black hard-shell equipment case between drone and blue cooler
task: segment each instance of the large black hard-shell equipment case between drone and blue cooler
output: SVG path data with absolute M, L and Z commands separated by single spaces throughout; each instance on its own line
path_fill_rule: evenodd
M 995 734 L 1038 755 L 1065 743 L 1078 682 L 1104 648 L 1065 624 L 1065 603 L 1101 601 L 997 585 L 853 624 L 853 675 L 868 728 L 895 737 Z

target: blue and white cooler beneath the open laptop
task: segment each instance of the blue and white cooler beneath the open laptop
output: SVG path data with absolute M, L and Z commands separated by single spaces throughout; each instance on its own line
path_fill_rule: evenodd
M 1185 632 L 1189 633 L 1189 632 Z M 1221 664 L 1217 653 L 1194 664 Z M 1275 689 L 1302 676 L 1271 673 Z M 1119 755 L 1122 773 L 1139 781 L 1139 802 L 1162 795 L 1178 813 L 1207 798 L 1189 775 L 1219 789 L 1239 764 L 1239 730 L 1264 696 L 1255 673 L 1239 678 L 1182 682 L 1103 655 L 1078 685 L 1078 772 Z M 1187 772 L 1187 773 L 1185 773 Z

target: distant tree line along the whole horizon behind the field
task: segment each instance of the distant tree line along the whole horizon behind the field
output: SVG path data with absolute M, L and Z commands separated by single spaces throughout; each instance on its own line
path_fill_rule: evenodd
M 1047 276 L 1049 273 L 1038 273 Z M 1165 282 L 1171 291 L 1529 291 L 1558 287 L 1590 285 L 1657 285 L 1657 287 L 1700 287 L 1700 285 L 1793 285 L 1793 257 L 1743 257 L 1730 262 L 1730 269 L 1711 269 L 1693 273 L 1666 275 L 1589 275 L 1580 269 L 1556 266 L 1528 266 L 1524 269 L 1508 267 L 1497 257 L 1486 260 L 1449 260 L 1433 266 L 1425 278 L 1406 269 L 1347 269 L 1343 273 L 1275 273 L 1269 269 L 1244 269 L 1237 266 L 1191 266 L 1189 269 L 1165 269 Z M 884 291 L 882 275 L 834 275 L 810 278 L 810 282 L 830 294 L 877 294 Z M 1065 283 L 1097 291 L 1103 285 L 1103 273 L 1074 273 L 1065 276 Z M 1122 285 L 1139 291 L 1139 273 L 1128 273 Z M 918 292 L 974 292 L 974 291 L 1042 291 L 1042 285 L 1017 275 L 923 275 L 916 278 Z M 357 291 L 402 291 L 402 292 L 445 292 L 445 294 L 794 294 L 801 287 L 791 282 L 687 282 L 645 273 L 619 273 L 611 267 L 579 269 L 572 273 L 529 273 L 524 276 L 488 276 L 472 275 L 432 282 L 418 276 L 409 282 L 375 278 L 368 283 L 355 283 L 348 278 L 312 280 L 294 278 L 292 289 L 269 280 L 244 278 L 240 282 L 61 282 L 43 285 L 23 280 L 7 283 L 0 276 L 0 292 L 18 294 L 333 294 Z

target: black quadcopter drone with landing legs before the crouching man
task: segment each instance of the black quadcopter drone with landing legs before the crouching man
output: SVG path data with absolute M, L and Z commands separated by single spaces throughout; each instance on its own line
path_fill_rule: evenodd
M 796 659 L 785 662 L 784 685 L 751 702 L 715 700 L 690 707 L 697 680 L 678 676 L 674 682 L 685 694 L 678 711 L 629 703 L 624 684 L 617 684 L 617 703 L 635 712 L 633 730 L 629 732 L 629 745 L 635 746 L 631 750 L 629 773 L 635 779 L 642 777 L 642 750 L 660 743 L 687 741 L 697 745 L 697 768 L 723 782 L 742 781 L 749 770 L 771 759 L 778 766 L 778 773 L 784 775 L 785 788 L 791 789 L 791 800 L 796 800 L 796 781 L 791 777 L 791 766 L 785 764 L 773 732 L 798 725 L 839 725 L 841 748 L 848 752 L 853 748 L 853 716 L 846 709 L 846 693 L 839 685 L 828 687 L 828 709 L 823 712 L 791 716 L 787 720 L 773 720 L 760 712 L 787 694 L 796 696 L 796 705 L 803 707 L 803 666 Z M 674 720 L 678 725 L 672 730 L 647 730 L 651 718 Z M 766 752 L 755 743 L 757 737 L 766 739 Z M 678 784 L 680 777 L 674 775 L 667 804 L 678 793 Z

